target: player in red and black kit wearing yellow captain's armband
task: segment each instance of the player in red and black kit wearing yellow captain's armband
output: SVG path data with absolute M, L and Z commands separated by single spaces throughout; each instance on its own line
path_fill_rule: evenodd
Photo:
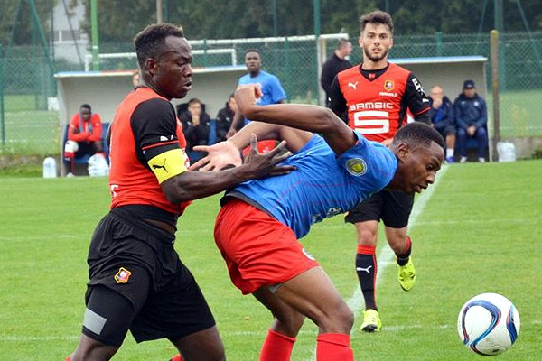
M 111 125 L 111 209 L 89 246 L 89 283 L 79 346 L 70 361 L 108 360 L 128 329 L 137 342 L 168 338 L 182 356 L 221 361 L 224 347 L 192 273 L 173 248 L 177 218 L 192 199 L 292 167 L 289 155 L 252 150 L 241 166 L 187 171 L 182 130 L 170 100 L 192 86 L 192 51 L 182 29 L 150 25 L 135 37 L 140 84 Z

